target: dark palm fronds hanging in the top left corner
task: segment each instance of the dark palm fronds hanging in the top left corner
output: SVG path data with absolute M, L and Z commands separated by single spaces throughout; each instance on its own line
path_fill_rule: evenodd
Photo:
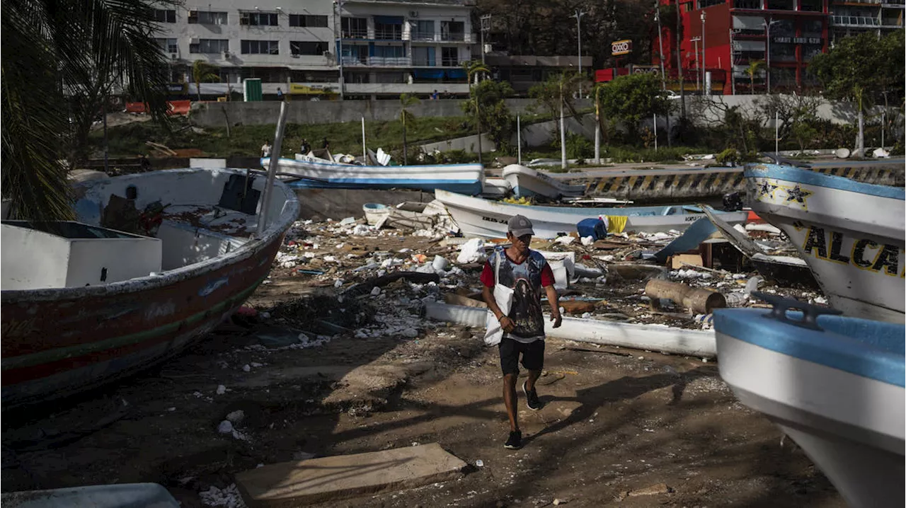
M 155 119 L 166 121 L 168 62 L 154 41 L 153 19 L 145 0 L 4 3 L 0 198 L 12 201 L 12 216 L 72 218 L 67 170 L 79 133 L 88 131 L 109 94 L 144 101 Z

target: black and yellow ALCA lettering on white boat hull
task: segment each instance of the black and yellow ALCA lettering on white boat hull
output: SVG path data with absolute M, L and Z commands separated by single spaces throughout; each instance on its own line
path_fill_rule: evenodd
M 829 235 L 829 238 L 828 238 Z M 848 255 L 843 254 L 843 242 L 851 244 Z M 806 255 L 814 255 L 818 259 L 832 261 L 839 264 L 852 264 L 861 270 L 882 272 L 886 275 L 906 277 L 906 267 L 900 270 L 900 251 L 896 245 L 878 244 L 866 238 L 846 238 L 843 233 L 828 230 L 825 234 L 823 227 L 810 226 L 805 235 L 802 251 Z

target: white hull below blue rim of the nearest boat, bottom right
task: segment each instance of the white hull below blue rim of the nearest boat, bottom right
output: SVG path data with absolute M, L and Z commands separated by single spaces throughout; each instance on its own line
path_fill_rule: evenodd
M 739 401 L 793 438 L 849 506 L 903 505 L 906 389 L 719 331 L 717 349 L 720 376 Z

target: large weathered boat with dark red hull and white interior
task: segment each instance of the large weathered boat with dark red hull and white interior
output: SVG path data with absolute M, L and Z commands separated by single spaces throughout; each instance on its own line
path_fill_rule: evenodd
M 265 280 L 299 211 L 279 181 L 265 206 L 266 177 L 237 169 L 73 187 L 77 221 L 0 222 L 2 407 L 65 397 L 185 349 Z

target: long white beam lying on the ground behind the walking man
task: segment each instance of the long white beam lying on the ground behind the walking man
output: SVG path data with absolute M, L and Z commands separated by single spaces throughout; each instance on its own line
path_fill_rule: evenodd
M 426 302 L 425 316 L 483 328 L 487 309 Z M 612 321 L 564 318 L 559 328 L 553 328 L 545 315 L 545 334 L 548 337 L 591 342 L 609 346 L 686 354 L 699 358 L 717 356 L 717 341 L 713 331 L 685 330 L 666 326 L 629 324 Z

